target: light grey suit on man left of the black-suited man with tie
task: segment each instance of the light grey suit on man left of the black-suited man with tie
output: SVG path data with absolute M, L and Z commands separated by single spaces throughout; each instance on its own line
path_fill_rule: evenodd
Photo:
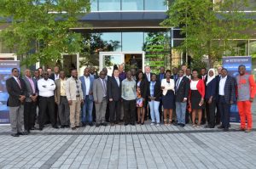
M 103 84 L 105 87 L 103 87 Z M 98 78 L 93 82 L 93 98 L 96 107 L 96 123 L 105 122 L 107 108 L 107 82 L 105 79 Z

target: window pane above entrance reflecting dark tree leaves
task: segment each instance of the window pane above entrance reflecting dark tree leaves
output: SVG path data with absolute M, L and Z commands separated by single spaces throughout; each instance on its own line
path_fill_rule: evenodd
M 102 33 L 102 42 L 105 44 L 104 51 L 121 51 L 121 33 Z

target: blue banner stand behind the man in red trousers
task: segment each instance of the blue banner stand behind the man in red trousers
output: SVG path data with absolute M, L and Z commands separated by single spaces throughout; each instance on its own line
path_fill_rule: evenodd
M 252 73 L 252 57 L 251 56 L 228 56 L 222 58 L 223 67 L 229 71 L 229 75 L 233 76 L 236 80 L 238 73 L 238 66 L 245 65 L 247 73 Z M 237 105 L 233 106 L 234 109 L 230 110 L 230 122 L 240 122 Z M 235 109 L 236 108 L 236 109 Z

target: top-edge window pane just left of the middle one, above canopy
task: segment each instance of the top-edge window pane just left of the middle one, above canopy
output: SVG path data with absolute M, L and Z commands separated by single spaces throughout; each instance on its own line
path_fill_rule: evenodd
M 100 11 L 119 11 L 121 10 L 120 0 L 99 0 Z

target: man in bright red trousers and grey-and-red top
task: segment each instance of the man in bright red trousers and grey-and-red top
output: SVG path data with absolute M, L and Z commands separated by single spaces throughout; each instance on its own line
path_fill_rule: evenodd
M 255 82 L 253 75 L 246 74 L 246 66 L 239 65 L 237 83 L 237 106 L 241 119 L 240 130 L 251 132 L 253 127 L 252 102 L 255 95 Z M 246 127 L 247 121 L 247 127 Z

